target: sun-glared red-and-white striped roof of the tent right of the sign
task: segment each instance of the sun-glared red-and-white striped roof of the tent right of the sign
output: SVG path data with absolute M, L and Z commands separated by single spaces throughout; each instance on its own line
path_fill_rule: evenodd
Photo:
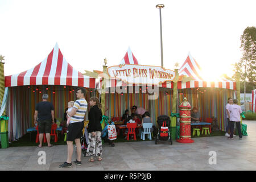
M 223 88 L 236 90 L 236 82 L 226 80 L 225 78 L 218 78 L 216 81 L 205 81 L 202 77 L 201 67 L 195 59 L 188 53 L 187 59 L 179 69 L 179 76 L 185 75 L 193 78 L 193 81 L 181 82 L 177 84 L 178 89 L 186 88 Z

